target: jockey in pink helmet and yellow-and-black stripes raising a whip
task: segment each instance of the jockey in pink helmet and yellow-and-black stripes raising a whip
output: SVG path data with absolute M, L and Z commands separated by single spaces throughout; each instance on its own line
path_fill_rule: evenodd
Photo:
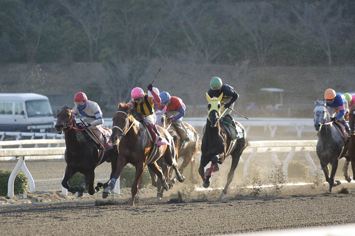
M 153 90 L 152 84 L 148 85 L 148 90 L 153 96 L 148 96 L 147 93 L 145 93 L 140 87 L 133 88 L 131 91 L 131 100 L 127 103 L 127 105 L 133 108 L 135 118 L 140 121 L 143 120 L 143 122 L 147 125 L 147 128 L 151 131 L 151 134 L 156 134 L 153 137 L 153 140 L 155 140 L 154 145 L 167 145 L 166 141 L 161 138 L 158 129 L 155 126 L 157 116 L 154 113 L 153 105 L 159 105 L 161 99 L 156 91 Z

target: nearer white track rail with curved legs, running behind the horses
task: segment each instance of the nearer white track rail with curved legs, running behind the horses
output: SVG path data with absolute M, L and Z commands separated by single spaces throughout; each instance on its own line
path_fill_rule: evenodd
M 21 146 L 21 145 L 60 145 L 64 143 L 63 139 L 30 139 L 30 140 L 14 140 L 14 141 L 0 141 L 0 146 Z M 37 142 L 37 143 L 36 143 Z M 279 168 L 282 168 L 282 178 L 286 182 L 288 179 L 288 167 L 289 163 L 294 157 L 296 152 L 302 152 L 305 160 L 311 167 L 311 174 L 318 179 L 322 179 L 322 172 L 320 171 L 319 163 L 316 165 L 310 152 L 315 152 L 317 140 L 281 140 L 281 141 L 250 141 L 248 147 L 244 150 L 242 158 L 245 159 L 245 154 L 248 154 L 244 168 L 243 177 L 248 178 L 248 169 L 253 161 L 256 161 L 258 153 L 269 153 L 271 160 Z M 15 161 L 18 160 L 14 167 L 8 182 L 8 196 L 13 199 L 13 186 L 15 177 L 20 169 L 28 177 L 29 192 L 35 191 L 34 181 L 26 167 L 25 160 L 49 160 L 49 159 L 64 159 L 65 147 L 47 147 L 47 148 L 2 148 L 0 149 L 0 161 Z M 279 160 L 277 154 L 284 155 L 287 153 L 287 157 L 283 163 Z M 267 158 L 267 157 L 263 157 Z M 243 161 L 243 160 L 241 160 Z M 119 183 L 119 181 L 117 181 Z M 66 188 L 62 188 L 62 193 L 67 195 Z M 114 193 L 119 194 L 119 184 L 116 184 Z

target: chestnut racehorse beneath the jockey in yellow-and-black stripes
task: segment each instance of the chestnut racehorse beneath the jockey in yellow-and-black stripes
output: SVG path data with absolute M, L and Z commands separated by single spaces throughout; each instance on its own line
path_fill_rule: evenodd
M 165 162 L 169 166 L 172 166 L 175 170 L 177 180 L 183 182 L 185 177 L 176 167 L 174 143 L 168 131 L 163 127 L 157 126 L 160 134 L 167 139 L 169 145 L 154 146 L 144 124 L 134 119 L 131 110 L 132 109 L 126 103 L 120 103 L 118 111 L 113 118 L 111 140 L 113 143 L 119 143 L 117 170 L 108 186 L 104 188 L 102 198 L 108 197 L 115 186 L 116 180 L 121 175 L 123 168 L 130 163 L 135 166 L 135 177 L 131 188 L 131 205 L 134 206 L 138 184 L 145 166 L 153 170 L 162 182 L 164 189 L 168 191 L 169 186 L 165 181 L 161 168 L 156 162 L 159 158 L 163 157 Z

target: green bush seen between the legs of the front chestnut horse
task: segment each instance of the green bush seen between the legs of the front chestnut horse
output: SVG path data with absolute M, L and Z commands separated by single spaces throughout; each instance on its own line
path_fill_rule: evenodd
M 134 176 L 135 176 L 135 167 L 130 164 L 126 165 L 120 176 L 120 186 L 131 187 L 134 181 Z M 144 169 L 143 176 L 140 179 L 140 181 L 145 187 L 150 186 L 152 184 L 152 180 L 148 168 Z

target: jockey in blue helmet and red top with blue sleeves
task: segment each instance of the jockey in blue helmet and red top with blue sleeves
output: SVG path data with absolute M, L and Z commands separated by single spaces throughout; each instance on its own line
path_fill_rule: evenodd
M 183 122 L 186 109 L 183 100 L 178 97 L 171 97 L 168 92 L 161 92 L 159 96 L 161 98 L 160 108 L 166 106 L 166 116 L 171 117 L 170 120 L 174 123 L 184 141 L 190 141 L 187 135 L 188 131 Z

